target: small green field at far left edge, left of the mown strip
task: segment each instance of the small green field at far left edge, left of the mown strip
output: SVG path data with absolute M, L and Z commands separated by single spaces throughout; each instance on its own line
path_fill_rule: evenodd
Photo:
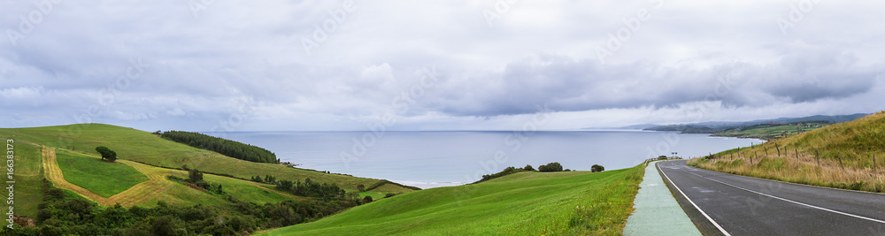
M 43 199 L 40 147 L 20 142 L 12 145 L 15 152 L 15 212 L 19 216 L 36 217 L 37 205 Z

